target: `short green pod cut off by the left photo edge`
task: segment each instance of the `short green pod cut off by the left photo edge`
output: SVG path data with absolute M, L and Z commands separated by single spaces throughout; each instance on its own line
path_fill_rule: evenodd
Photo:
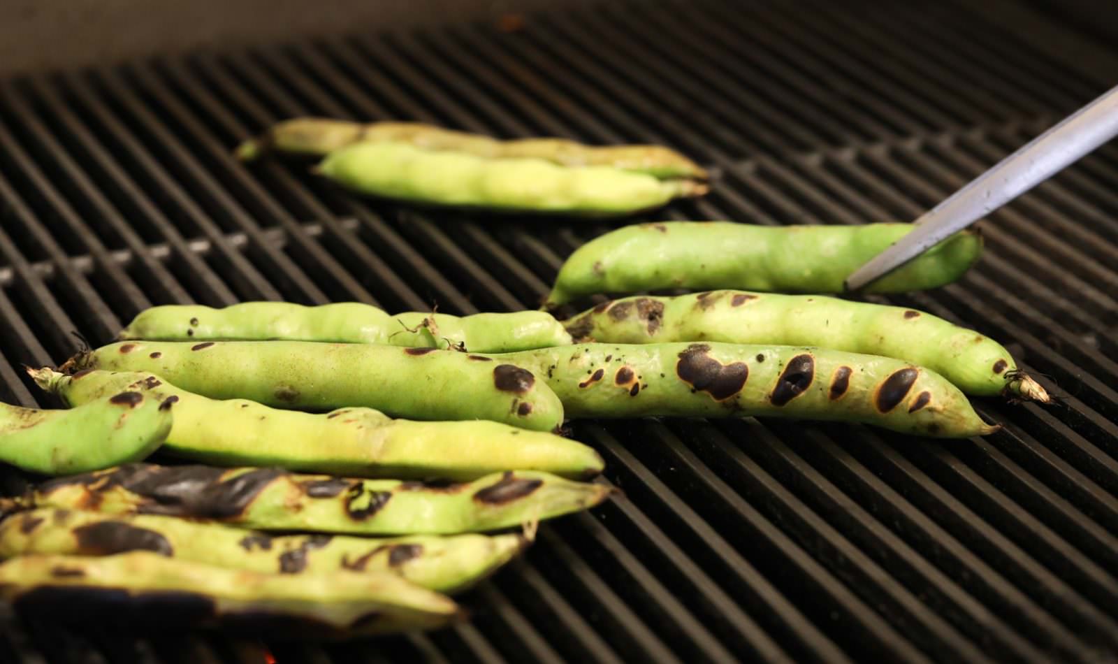
M 0 461 L 45 475 L 140 461 L 167 439 L 171 405 L 127 389 L 106 392 L 72 410 L 0 404 Z

